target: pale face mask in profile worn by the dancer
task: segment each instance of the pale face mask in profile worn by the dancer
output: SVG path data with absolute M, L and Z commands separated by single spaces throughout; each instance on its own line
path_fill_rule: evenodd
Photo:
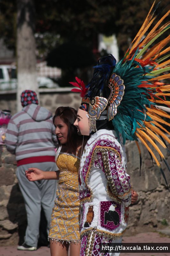
M 77 127 L 79 134 L 88 136 L 90 134 L 88 112 L 79 108 L 74 125 Z

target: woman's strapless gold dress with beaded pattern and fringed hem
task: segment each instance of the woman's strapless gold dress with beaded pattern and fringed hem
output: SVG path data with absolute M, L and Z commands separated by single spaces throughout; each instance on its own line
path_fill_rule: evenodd
M 80 242 L 78 169 L 80 158 L 60 152 L 56 164 L 60 170 L 59 186 L 51 214 L 49 240 L 68 243 Z

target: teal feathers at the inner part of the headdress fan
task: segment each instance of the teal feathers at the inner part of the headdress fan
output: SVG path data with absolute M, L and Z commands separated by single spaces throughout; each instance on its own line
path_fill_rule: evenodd
M 138 49 L 132 60 L 123 63 L 123 59 L 116 64 L 113 72 L 119 75 L 125 84 L 125 92 L 121 104 L 117 107 L 117 114 L 113 119 L 115 131 L 122 134 L 123 143 L 127 140 L 137 140 L 135 135 L 136 128 L 140 125 L 144 127 L 144 121 L 150 121 L 149 116 L 144 115 L 147 110 L 145 105 L 151 106 L 147 99 L 149 96 L 148 88 L 138 87 L 142 82 L 154 77 L 151 73 L 153 66 L 142 67 L 135 60 Z M 144 75 L 147 74 L 147 75 Z M 153 104 L 153 103 L 152 103 Z

